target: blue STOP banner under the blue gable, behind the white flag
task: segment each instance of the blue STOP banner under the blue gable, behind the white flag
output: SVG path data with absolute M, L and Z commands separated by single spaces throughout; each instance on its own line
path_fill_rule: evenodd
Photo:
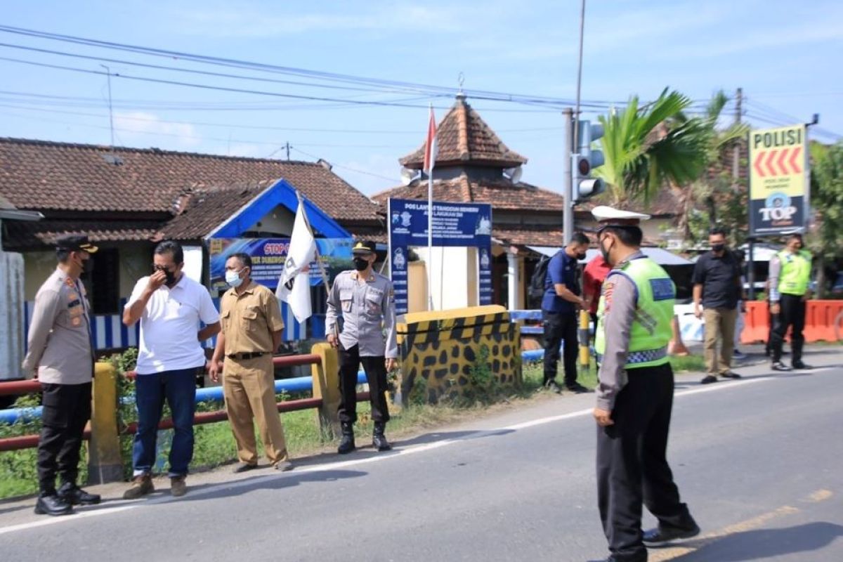
M 342 270 L 350 270 L 352 262 L 352 238 L 316 238 L 316 247 L 322 265 L 328 273 L 328 281 Z M 252 259 L 252 279 L 275 291 L 278 278 L 284 270 L 289 238 L 212 238 L 208 241 L 211 254 L 211 286 L 225 288 L 225 261 L 231 254 L 243 252 Z M 310 265 L 310 285 L 322 283 L 319 265 Z

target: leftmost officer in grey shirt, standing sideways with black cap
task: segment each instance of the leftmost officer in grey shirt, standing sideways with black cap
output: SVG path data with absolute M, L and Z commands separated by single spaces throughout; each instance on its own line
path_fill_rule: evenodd
M 35 295 L 28 351 L 23 370 L 37 374 L 43 392 L 43 427 L 38 442 L 39 495 L 35 513 L 66 515 L 76 504 L 99 503 L 99 495 L 81 490 L 79 447 L 91 417 L 90 308 L 79 276 L 90 271 L 97 247 L 87 236 L 56 240 L 58 267 Z M 56 472 L 62 480 L 56 490 Z

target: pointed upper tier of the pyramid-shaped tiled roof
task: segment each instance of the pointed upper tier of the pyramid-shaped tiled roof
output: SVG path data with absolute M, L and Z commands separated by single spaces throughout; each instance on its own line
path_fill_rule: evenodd
M 512 168 L 527 162 L 510 150 L 491 130 L 480 115 L 462 95 L 437 126 L 437 166 L 475 164 Z M 421 169 L 427 141 L 416 152 L 400 158 L 399 162 L 410 169 Z

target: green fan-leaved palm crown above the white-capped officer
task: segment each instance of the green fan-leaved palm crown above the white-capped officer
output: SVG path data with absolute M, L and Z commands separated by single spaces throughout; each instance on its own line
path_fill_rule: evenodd
M 608 185 L 613 204 L 645 202 L 664 185 L 686 185 L 706 169 L 708 131 L 703 120 L 686 119 L 691 100 L 665 88 L 658 99 L 599 117 L 605 163 L 594 170 Z

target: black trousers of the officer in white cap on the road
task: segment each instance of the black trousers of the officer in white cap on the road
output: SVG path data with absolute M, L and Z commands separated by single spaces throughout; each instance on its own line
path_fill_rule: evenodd
M 618 560 L 646 560 L 642 505 L 662 527 L 692 524 L 666 452 L 674 402 L 670 365 L 628 371 L 612 411 L 614 426 L 597 428 L 597 493 L 609 550 Z

